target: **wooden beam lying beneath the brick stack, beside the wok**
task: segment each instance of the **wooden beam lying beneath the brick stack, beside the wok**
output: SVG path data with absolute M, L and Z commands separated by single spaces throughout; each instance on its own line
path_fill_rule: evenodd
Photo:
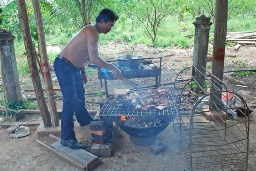
M 116 123 L 114 123 L 113 124 L 112 141 L 110 143 L 106 143 L 104 145 L 93 143 L 93 145 L 91 146 L 91 153 L 92 154 L 94 154 L 98 157 L 111 156 L 111 152 L 112 152 L 112 149 L 113 149 L 113 144 L 114 144 L 114 141 L 115 141 L 115 135 L 116 135 L 117 127 L 118 127 L 118 125 Z

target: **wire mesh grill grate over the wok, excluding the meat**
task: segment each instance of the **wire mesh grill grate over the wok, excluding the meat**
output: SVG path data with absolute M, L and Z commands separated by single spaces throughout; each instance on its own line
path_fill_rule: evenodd
M 170 108 L 158 110 L 158 109 L 149 109 L 149 110 L 129 110 L 129 109 L 122 109 L 117 105 L 111 105 L 110 100 L 108 99 L 104 106 L 101 108 L 99 112 L 99 116 L 119 116 L 120 114 L 126 115 L 126 116 L 142 116 L 142 115 L 178 115 L 177 109 L 174 105 L 174 98 L 171 94 L 170 90 L 168 95 L 168 103 L 170 105 Z

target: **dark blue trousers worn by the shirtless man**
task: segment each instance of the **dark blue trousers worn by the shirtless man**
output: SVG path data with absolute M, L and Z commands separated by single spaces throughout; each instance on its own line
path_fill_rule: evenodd
M 77 122 L 90 123 L 91 117 L 85 108 L 83 77 L 80 69 L 70 66 L 59 58 L 53 64 L 56 77 L 63 94 L 63 106 L 61 113 L 61 139 L 75 138 L 73 114 L 75 112 Z

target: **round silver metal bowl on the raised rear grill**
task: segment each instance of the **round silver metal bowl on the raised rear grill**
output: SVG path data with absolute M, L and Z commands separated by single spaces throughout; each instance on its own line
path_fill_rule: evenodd
M 123 60 L 118 61 L 117 63 L 121 66 L 139 66 L 143 60 L 143 56 L 140 55 L 121 55 L 117 56 L 116 60 Z M 137 59 L 137 60 L 135 60 Z M 125 61 L 124 61 L 125 60 Z

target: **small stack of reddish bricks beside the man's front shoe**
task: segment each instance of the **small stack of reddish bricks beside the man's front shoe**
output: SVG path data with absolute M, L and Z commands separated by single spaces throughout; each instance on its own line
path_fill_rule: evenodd
M 96 144 L 105 144 L 107 134 L 104 121 L 93 121 L 90 123 L 91 142 Z

